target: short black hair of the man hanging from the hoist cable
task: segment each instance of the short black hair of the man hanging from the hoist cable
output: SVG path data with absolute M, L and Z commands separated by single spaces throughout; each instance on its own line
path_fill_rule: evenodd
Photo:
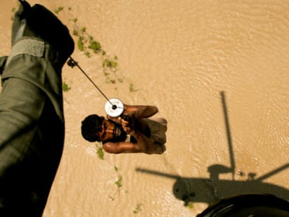
M 104 117 L 97 114 L 91 114 L 82 121 L 81 133 L 82 137 L 89 142 L 99 142 L 100 138 L 96 133 L 101 132 Z

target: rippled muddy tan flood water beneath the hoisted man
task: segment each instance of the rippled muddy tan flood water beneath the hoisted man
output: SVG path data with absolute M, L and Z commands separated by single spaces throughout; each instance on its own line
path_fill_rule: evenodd
M 101 44 L 105 54 L 76 45 L 72 56 L 108 98 L 168 120 L 165 154 L 102 160 L 80 123 L 105 116 L 106 100 L 64 66 L 65 147 L 43 216 L 195 216 L 240 193 L 289 200 L 289 1 L 29 2 L 64 7 L 75 42 Z M 0 6 L 4 55 L 17 1 Z

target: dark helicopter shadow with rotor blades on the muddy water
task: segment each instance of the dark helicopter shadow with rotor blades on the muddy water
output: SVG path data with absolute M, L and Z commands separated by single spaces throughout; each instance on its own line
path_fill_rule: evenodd
M 268 177 L 272 177 L 274 174 L 289 168 L 289 163 L 258 178 L 255 178 L 255 173 L 249 173 L 247 180 L 235 180 L 235 158 L 232 149 L 228 112 L 225 105 L 225 94 L 223 91 L 221 91 L 221 99 L 230 153 L 230 167 L 218 164 L 209 166 L 207 168 L 209 178 L 180 177 L 175 174 L 167 174 L 140 167 L 135 169 L 136 172 L 144 172 L 151 175 L 175 179 L 176 181 L 173 185 L 172 192 L 177 199 L 184 201 L 185 206 L 188 205 L 188 202 L 205 202 L 207 204 L 212 204 L 225 197 L 244 195 L 248 193 L 267 193 L 289 201 L 289 189 L 263 182 L 263 180 L 267 179 Z M 227 173 L 232 174 L 232 180 L 219 179 L 220 174 Z

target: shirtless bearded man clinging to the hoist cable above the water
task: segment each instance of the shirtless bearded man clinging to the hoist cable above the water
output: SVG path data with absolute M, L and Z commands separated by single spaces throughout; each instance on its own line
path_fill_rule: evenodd
M 124 105 L 119 117 L 91 114 L 82 121 L 82 136 L 89 142 L 103 142 L 112 154 L 163 154 L 167 121 L 152 118 L 158 108 L 149 105 Z

